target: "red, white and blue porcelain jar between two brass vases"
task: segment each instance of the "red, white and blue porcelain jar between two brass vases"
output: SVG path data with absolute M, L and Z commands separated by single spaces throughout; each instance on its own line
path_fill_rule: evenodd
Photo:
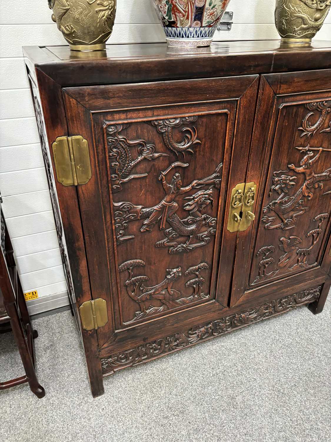
M 230 0 L 153 0 L 169 46 L 209 46 Z

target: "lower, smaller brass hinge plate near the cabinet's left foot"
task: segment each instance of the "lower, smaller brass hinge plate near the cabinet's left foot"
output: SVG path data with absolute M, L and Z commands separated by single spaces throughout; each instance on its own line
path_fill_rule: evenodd
M 108 322 L 107 301 L 94 299 L 86 301 L 79 307 L 80 318 L 84 330 L 97 330 Z

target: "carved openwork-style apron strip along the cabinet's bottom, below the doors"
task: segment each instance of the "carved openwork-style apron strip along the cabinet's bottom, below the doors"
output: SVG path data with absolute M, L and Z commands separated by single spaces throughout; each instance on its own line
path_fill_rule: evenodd
M 201 341 L 211 339 L 237 328 L 244 327 L 260 320 L 267 319 L 282 312 L 296 309 L 300 305 L 316 301 L 321 293 L 321 286 L 302 290 L 298 293 L 265 302 L 254 308 L 244 310 L 241 313 L 234 313 L 221 319 L 208 322 L 190 328 L 186 332 L 179 332 L 165 336 L 162 339 L 139 345 L 130 350 L 113 354 L 109 358 L 102 358 L 103 373 L 114 373 L 117 370 L 128 366 L 135 366 L 147 362 L 158 356 L 181 350 Z

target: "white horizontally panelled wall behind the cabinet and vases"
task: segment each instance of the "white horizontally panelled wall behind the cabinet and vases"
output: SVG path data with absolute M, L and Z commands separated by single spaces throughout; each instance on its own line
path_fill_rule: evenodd
M 117 0 L 109 43 L 165 41 L 150 1 Z M 217 31 L 215 40 L 278 38 L 273 1 L 233 0 L 228 10 L 234 14 L 232 30 Z M 331 14 L 317 38 L 331 39 Z M 54 295 L 66 289 L 22 46 L 64 44 L 64 39 L 51 20 L 47 0 L 11 0 L 0 2 L 0 42 L 3 210 L 23 290 L 49 296 L 52 301 L 45 304 L 50 309 L 58 306 Z

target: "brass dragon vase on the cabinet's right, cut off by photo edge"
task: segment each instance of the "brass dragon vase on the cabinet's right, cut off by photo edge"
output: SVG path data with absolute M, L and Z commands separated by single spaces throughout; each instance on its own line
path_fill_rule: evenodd
M 330 7 L 331 0 L 276 0 L 275 23 L 282 42 L 310 43 Z

